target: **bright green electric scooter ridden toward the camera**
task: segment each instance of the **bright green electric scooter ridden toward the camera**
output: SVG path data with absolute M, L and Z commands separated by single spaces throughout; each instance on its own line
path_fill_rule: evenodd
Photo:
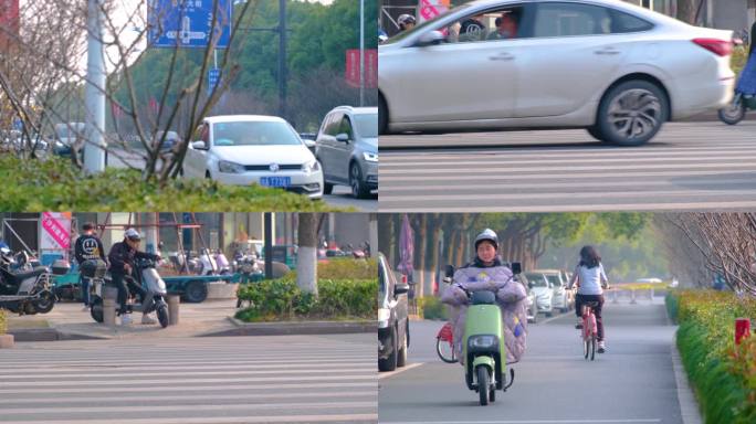
M 522 272 L 519 263 L 512 264 L 512 273 Z M 454 267 L 447 266 L 447 278 L 451 280 Z M 481 405 L 496 400 L 496 390 L 506 390 L 514 383 L 514 370 L 510 369 L 506 382 L 506 346 L 502 310 L 493 292 L 468 292 L 470 306 L 464 324 L 462 354 L 464 356 L 464 379 L 468 389 L 480 396 Z

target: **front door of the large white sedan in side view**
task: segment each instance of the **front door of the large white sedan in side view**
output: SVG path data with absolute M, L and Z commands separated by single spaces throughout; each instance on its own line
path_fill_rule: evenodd
M 493 15 L 500 11 L 492 9 L 489 13 Z M 460 17 L 454 22 L 469 18 L 472 17 Z M 389 93 L 392 120 L 420 123 L 512 117 L 523 40 L 487 40 L 485 36 L 462 40 L 453 35 L 458 23 L 448 25 L 444 22 L 426 31 L 452 34 L 447 35 L 448 42 L 412 45 L 391 53 L 388 75 L 393 91 Z

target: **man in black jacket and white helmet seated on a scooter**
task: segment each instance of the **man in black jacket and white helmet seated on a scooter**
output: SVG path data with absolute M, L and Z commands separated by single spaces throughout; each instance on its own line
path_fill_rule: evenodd
M 139 295 L 139 298 L 144 303 L 147 292 L 136 284 L 132 278 L 126 278 L 134 271 L 134 259 L 145 258 L 151 261 L 160 261 L 160 256 L 153 255 L 146 252 L 139 252 L 139 242 L 141 236 L 134 229 L 128 229 L 124 233 L 124 241 L 116 243 L 111 248 L 111 253 L 107 255 L 108 262 L 111 263 L 111 278 L 113 279 L 113 285 L 118 289 L 118 305 L 120 324 L 128 325 L 132 319 L 128 316 L 128 309 L 126 307 L 126 300 L 128 298 L 128 290 Z M 141 324 L 155 324 L 157 322 L 149 317 L 149 314 L 141 315 Z

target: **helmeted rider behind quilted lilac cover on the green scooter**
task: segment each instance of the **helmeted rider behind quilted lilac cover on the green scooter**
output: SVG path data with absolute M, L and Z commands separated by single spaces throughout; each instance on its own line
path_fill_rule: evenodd
M 464 364 L 462 357 L 462 336 L 468 309 L 468 293 L 491 290 L 502 308 L 504 320 L 504 342 L 507 362 L 517 362 L 525 352 L 527 337 L 527 312 L 525 287 L 517 283 L 512 269 L 504 265 L 496 254 L 498 236 L 486 229 L 475 237 L 475 258 L 454 272 L 452 285 L 441 296 L 441 301 L 451 305 L 451 322 L 454 328 L 454 349 L 456 358 Z

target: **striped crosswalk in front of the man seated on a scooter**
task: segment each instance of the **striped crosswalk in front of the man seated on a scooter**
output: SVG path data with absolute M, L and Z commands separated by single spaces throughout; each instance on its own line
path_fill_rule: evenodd
M 0 422 L 376 423 L 375 335 L 18 343 Z

